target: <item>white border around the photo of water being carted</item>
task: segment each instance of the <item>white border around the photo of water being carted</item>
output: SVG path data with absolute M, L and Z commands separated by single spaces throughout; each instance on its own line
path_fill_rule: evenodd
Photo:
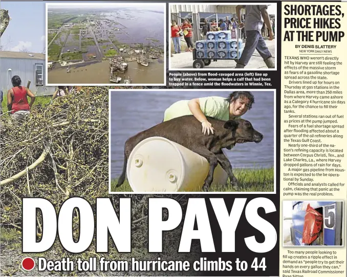
M 275 14 L 275 34 L 277 34 L 277 3 L 256 3 L 256 2 L 249 2 L 249 3 L 232 3 L 232 4 L 228 4 L 228 3 L 184 3 L 185 6 L 189 6 L 189 5 L 211 5 L 211 6 L 217 6 L 217 5 L 223 5 L 223 6 L 237 6 L 237 5 L 245 5 L 245 4 L 250 4 L 250 5 L 274 5 L 276 7 L 276 14 Z M 169 17 L 168 17 L 168 27 L 171 26 L 170 22 L 171 22 L 171 5 L 182 5 L 182 3 L 169 3 Z M 191 68 L 172 68 L 171 67 L 171 30 L 168 30 L 168 36 L 169 36 L 169 71 L 173 71 L 173 70 L 182 70 L 182 71 L 213 71 L 213 70 L 219 70 L 219 71 L 227 71 L 227 70 L 246 70 L 246 71 L 276 71 L 277 70 L 277 62 L 275 62 L 275 68 L 209 68 L 209 67 L 205 67 L 205 68 L 193 68 L 193 64 L 191 64 Z M 277 38 L 276 38 L 277 39 Z M 278 38 L 280 39 L 280 38 Z M 277 59 L 277 40 L 276 40 L 276 45 L 275 45 L 275 60 L 280 60 Z M 217 61 L 218 62 L 218 61 Z

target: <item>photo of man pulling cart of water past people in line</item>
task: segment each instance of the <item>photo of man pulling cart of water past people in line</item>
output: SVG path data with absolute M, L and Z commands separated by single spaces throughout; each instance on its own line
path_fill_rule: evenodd
M 276 11 L 276 3 L 170 4 L 169 68 L 276 68 Z

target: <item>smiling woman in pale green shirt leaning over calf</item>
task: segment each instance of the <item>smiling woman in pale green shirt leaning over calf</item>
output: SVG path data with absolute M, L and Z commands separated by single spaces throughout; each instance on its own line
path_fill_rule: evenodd
M 227 121 L 244 115 L 252 108 L 254 96 L 249 91 L 234 91 L 229 97 L 208 96 L 191 100 L 180 100 L 165 110 L 164 120 L 193 115 L 202 125 L 202 132 L 213 134 L 213 127 L 207 120 L 208 117 Z

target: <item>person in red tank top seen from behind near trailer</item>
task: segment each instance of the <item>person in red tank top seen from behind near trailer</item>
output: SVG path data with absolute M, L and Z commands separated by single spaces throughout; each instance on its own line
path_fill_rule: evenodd
M 15 75 L 11 79 L 13 88 L 7 92 L 7 108 L 11 111 L 12 117 L 19 123 L 30 115 L 30 108 L 34 104 L 35 95 L 26 87 L 21 86 L 19 76 Z M 31 98 L 28 104 L 28 98 Z

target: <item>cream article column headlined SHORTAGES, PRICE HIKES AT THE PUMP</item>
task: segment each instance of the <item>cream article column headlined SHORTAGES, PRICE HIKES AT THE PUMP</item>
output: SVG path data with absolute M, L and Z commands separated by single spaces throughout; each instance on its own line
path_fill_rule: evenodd
M 282 3 L 282 276 L 346 275 L 346 3 L 327 4 Z

